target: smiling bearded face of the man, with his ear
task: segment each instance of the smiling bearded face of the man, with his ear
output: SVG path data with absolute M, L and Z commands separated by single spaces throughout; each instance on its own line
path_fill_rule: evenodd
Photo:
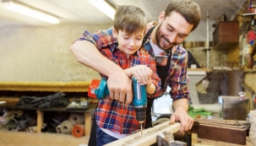
M 193 24 L 188 24 L 186 19 L 177 12 L 172 12 L 164 19 L 165 13 L 159 17 L 160 24 L 156 30 L 156 43 L 162 50 L 167 51 L 173 46 L 182 43 L 193 29 Z

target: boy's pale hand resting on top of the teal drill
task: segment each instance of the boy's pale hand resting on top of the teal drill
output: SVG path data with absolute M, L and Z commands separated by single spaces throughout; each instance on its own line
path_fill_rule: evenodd
M 133 77 L 135 77 L 140 85 L 151 83 L 152 70 L 145 65 L 137 65 L 131 68 Z

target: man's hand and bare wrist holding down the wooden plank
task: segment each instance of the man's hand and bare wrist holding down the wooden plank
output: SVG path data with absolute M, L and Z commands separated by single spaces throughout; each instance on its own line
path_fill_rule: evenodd
M 193 118 L 188 116 L 188 108 L 186 108 L 186 103 L 188 103 L 187 99 L 175 100 L 172 103 L 174 104 L 173 107 L 175 111 L 171 116 L 170 124 L 173 124 L 174 122 L 181 122 L 182 127 L 179 132 L 188 131 L 193 127 Z

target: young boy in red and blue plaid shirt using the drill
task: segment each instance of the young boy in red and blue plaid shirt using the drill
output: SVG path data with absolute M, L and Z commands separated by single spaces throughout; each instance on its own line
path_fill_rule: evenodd
M 155 60 L 141 48 L 146 25 L 146 16 L 140 8 L 121 6 L 115 14 L 114 28 L 107 30 L 112 31 L 117 42 L 113 43 L 110 48 L 100 51 L 105 57 L 123 68 L 130 78 L 135 77 L 140 82 L 141 78 L 150 77 L 151 82 L 146 84 L 146 91 L 148 97 L 153 98 L 161 93 L 161 79 L 156 73 Z M 101 77 L 107 79 L 102 73 Z M 144 83 L 139 84 L 144 85 Z M 136 120 L 133 104 L 124 104 L 111 99 L 110 96 L 99 101 L 95 111 L 95 120 L 97 145 L 104 145 L 126 137 L 138 130 L 140 125 Z

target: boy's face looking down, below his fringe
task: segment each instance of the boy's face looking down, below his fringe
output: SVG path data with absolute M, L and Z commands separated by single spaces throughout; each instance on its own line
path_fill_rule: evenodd
M 129 57 L 141 47 L 144 37 L 144 30 L 139 30 L 131 35 L 128 35 L 123 30 L 118 30 L 116 35 L 118 48 L 126 54 L 126 57 Z

